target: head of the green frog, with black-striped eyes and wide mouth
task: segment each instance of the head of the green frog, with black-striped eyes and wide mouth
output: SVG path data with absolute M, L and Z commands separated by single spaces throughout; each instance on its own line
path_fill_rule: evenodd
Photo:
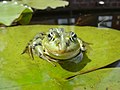
M 70 59 L 80 52 L 80 42 L 77 35 L 63 28 L 52 28 L 42 41 L 45 54 L 55 59 Z

